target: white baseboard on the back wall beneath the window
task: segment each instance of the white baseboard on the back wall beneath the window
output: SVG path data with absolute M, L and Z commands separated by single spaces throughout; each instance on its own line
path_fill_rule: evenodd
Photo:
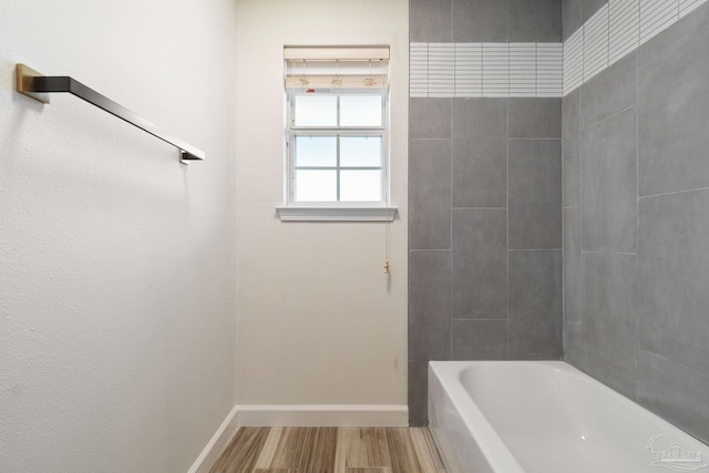
M 407 426 L 405 405 L 236 407 L 239 426 Z

